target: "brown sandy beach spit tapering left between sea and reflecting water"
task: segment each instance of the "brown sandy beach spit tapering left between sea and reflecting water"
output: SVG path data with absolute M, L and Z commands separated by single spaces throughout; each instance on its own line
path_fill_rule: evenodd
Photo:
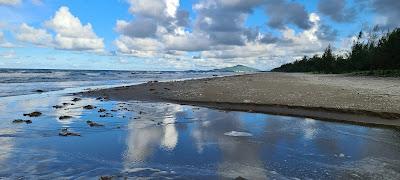
M 167 101 L 217 109 L 400 126 L 400 79 L 258 73 L 84 92 L 116 100 Z

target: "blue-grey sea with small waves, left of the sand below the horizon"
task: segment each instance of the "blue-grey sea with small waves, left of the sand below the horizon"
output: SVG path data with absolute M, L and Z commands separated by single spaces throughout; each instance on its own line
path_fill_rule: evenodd
M 151 80 L 183 80 L 234 73 L 182 71 L 111 71 L 111 70 L 53 70 L 0 69 L 0 97 L 18 96 L 67 88 L 129 85 Z

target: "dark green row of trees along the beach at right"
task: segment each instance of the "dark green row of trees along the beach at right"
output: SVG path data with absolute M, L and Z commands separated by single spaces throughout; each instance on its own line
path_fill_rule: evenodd
M 343 55 L 334 54 L 329 45 L 322 55 L 304 56 L 272 71 L 400 77 L 400 28 L 386 33 L 379 33 L 377 27 L 361 31 Z

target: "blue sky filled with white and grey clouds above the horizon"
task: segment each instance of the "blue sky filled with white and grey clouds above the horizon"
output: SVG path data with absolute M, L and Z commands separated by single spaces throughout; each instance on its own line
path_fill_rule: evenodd
M 400 25 L 399 0 L 0 0 L 0 68 L 270 70 L 360 30 Z

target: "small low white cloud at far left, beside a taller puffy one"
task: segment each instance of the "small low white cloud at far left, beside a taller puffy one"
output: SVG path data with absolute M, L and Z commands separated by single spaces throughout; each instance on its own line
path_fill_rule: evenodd
M 25 23 L 21 24 L 15 37 L 19 41 L 38 46 L 53 46 L 53 37 L 45 29 L 36 29 Z

